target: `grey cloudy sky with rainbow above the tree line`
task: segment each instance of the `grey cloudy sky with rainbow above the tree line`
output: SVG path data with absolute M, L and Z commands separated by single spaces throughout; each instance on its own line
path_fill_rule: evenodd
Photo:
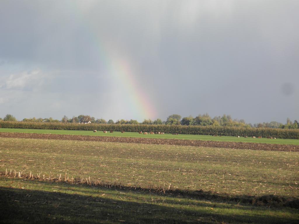
M 0 1 L 0 117 L 299 119 L 299 1 Z

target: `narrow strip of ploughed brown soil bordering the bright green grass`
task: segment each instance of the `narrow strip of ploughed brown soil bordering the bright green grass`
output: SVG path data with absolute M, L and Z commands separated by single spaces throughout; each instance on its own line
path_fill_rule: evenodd
M 76 140 L 94 142 L 120 142 L 120 143 L 141 143 L 155 145 L 180 145 L 196 146 L 208 148 L 233 148 L 251 149 L 264 151 L 288 151 L 299 152 L 299 145 L 280 145 L 249 142 L 217 142 L 202 140 L 182 140 L 182 139 L 149 139 L 149 138 L 126 138 L 108 136 L 82 136 L 82 135 L 60 135 L 60 134 L 36 134 L 36 133 L 7 133 L 1 132 L 2 138 L 26 138 L 26 139 L 56 139 L 56 140 Z

